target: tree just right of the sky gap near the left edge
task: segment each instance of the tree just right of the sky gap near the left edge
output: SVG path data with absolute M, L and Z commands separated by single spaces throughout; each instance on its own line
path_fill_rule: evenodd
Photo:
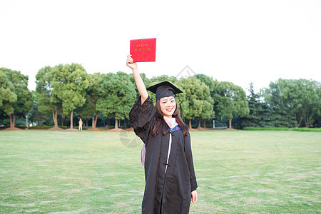
M 53 129 L 58 128 L 58 112 L 62 109 L 62 101 L 58 93 L 54 93 L 53 84 L 56 81 L 51 66 L 41 68 L 36 74 L 36 99 L 40 113 L 52 113 L 54 121 Z

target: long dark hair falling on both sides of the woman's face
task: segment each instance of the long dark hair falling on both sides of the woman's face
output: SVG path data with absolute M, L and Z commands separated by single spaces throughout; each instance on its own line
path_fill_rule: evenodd
M 169 126 L 167 125 L 167 123 L 164 121 L 163 113 L 161 111 L 160 100 L 161 99 L 158 99 L 158 101 L 156 101 L 156 105 L 155 105 L 156 122 L 153 127 L 153 133 L 152 133 L 154 137 L 158 136 L 158 132 L 161 132 L 163 134 L 163 136 L 165 136 L 169 132 L 169 129 L 170 129 Z M 173 118 L 175 118 L 176 123 L 178 123 L 178 126 L 180 126 L 180 129 L 183 131 L 184 136 L 187 136 L 188 135 L 188 126 L 186 126 L 186 124 L 183 122 L 182 118 L 180 118 L 180 115 L 179 115 L 178 109 L 177 109 L 177 103 L 176 103 L 175 111 L 173 113 Z

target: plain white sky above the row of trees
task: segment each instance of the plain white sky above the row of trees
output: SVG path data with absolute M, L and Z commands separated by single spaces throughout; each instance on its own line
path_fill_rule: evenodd
M 279 78 L 321 81 L 321 1 L 0 0 L 0 67 L 29 76 L 80 63 L 87 73 L 131 73 L 131 39 L 157 38 L 140 73 L 188 66 L 248 91 Z

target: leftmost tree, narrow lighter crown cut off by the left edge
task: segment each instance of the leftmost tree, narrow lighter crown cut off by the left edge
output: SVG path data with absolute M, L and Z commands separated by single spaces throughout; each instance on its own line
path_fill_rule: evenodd
M 14 113 L 12 104 L 16 102 L 17 96 L 14 93 L 14 84 L 6 75 L 7 72 L 9 72 L 9 69 L 0 68 L 0 110 L 10 116 Z M 10 125 L 12 127 L 11 119 Z

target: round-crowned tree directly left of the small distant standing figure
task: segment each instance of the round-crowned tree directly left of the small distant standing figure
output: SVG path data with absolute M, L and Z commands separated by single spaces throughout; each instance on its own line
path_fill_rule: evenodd
M 87 72 L 77 63 L 58 65 L 52 69 L 53 93 L 62 101 L 63 114 L 70 113 L 70 127 L 73 129 L 73 110 L 86 102 L 86 88 L 89 86 Z

